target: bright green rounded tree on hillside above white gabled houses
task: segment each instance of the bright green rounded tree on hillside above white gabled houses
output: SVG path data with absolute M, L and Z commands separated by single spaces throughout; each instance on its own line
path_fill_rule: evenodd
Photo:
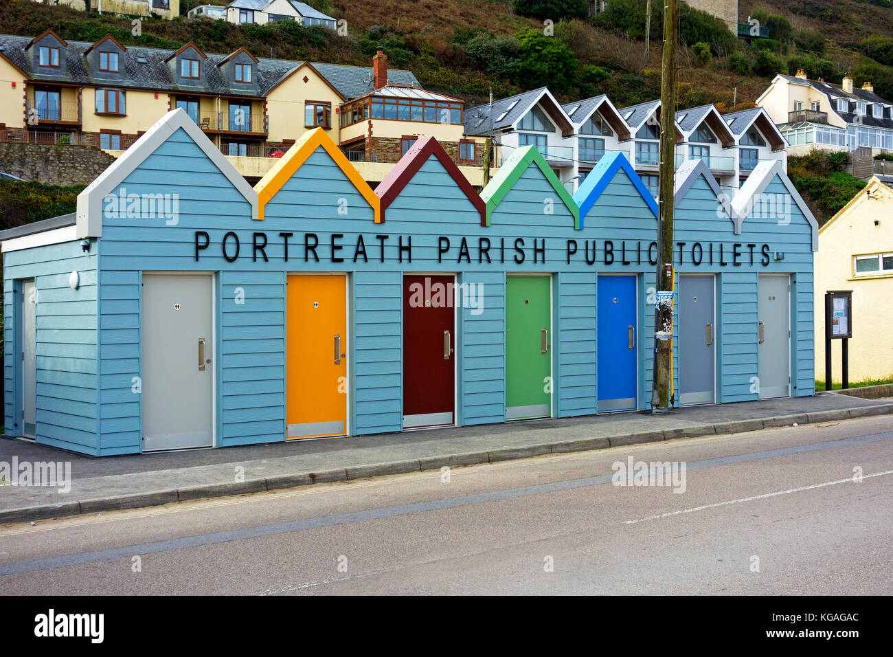
M 567 46 L 538 29 L 527 29 L 516 36 L 520 45 L 513 76 L 516 84 L 523 88 L 548 87 L 556 93 L 572 87 L 579 63 Z

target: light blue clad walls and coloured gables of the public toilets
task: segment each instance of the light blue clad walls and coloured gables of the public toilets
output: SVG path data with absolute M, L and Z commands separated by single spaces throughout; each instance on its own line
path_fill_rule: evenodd
M 814 394 L 817 229 L 808 208 L 778 164 L 759 164 L 734 199 L 697 160 L 676 180 L 676 273 L 715 281 L 715 401 L 760 397 L 759 326 L 768 320 L 758 288 L 766 274 L 789 280 L 789 394 Z M 32 403 L 21 353 L 22 290 L 33 280 L 37 442 L 96 456 L 143 451 L 143 276 L 159 273 L 213 276 L 213 334 L 201 337 L 214 446 L 286 440 L 288 382 L 304 375 L 299 358 L 298 371 L 288 371 L 287 354 L 299 349 L 287 339 L 288 274 L 346 274 L 347 330 L 336 349 L 346 345 L 348 435 L 404 428 L 407 274 L 455 277 L 456 425 L 505 422 L 509 274 L 550 276 L 543 347 L 553 417 L 630 408 L 598 400 L 649 408 L 657 206 L 619 153 L 603 157 L 571 197 L 534 147 L 520 148 L 479 195 L 426 138 L 373 191 L 317 130 L 252 189 L 175 110 L 81 193 L 74 225 L 7 233 L 9 435 L 22 434 Z M 601 289 L 607 283 L 618 291 Z M 631 295 L 622 326 L 605 308 L 618 295 Z M 599 351 L 599 333 L 622 339 L 623 358 Z

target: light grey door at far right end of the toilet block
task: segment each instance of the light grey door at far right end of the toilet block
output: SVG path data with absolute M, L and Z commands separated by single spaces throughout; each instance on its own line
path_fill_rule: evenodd
M 761 275 L 757 303 L 760 398 L 790 394 L 790 279 Z

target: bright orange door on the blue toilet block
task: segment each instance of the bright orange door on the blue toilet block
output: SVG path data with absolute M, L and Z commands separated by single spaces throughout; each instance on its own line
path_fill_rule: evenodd
M 288 276 L 286 437 L 347 433 L 345 276 Z

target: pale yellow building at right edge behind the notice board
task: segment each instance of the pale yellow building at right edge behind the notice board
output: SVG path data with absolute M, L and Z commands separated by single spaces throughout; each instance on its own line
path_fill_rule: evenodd
M 819 229 L 815 254 L 815 375 L 825 378 L 825 292 L 853 291 L 849 380 L 893 377 L 893 190 L 877 176 Z M 832 346 L 840 381 L 839 340 Z

